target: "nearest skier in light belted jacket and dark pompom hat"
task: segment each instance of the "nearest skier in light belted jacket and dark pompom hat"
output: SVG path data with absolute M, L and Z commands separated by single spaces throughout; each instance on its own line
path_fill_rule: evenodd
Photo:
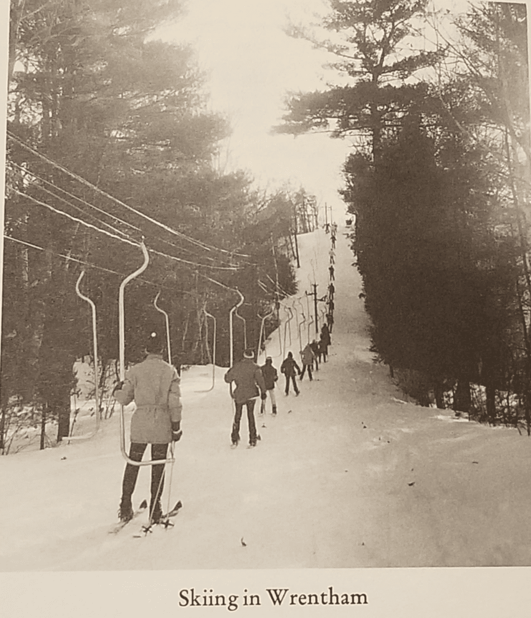
M 129 459 L 142 461 L 148 444 L 151 444 L 151 459 L 166 459 L 168 444 L 181 439 L 181 389 L 176 368 L 162 358 L 164 342 L 152 332 L 142 363 L 125 374 L 125 380 L 114 387 L 113 396 L 122 405 L 133 400 L 137 408 L 131 418 L 131 447 Z M 125 466 L 122 481 L 122 500 L 119 508 L 121 522 L 129 522 L 134 511 L 131 496 L 135 489 L 138 466 Z M 164 488 L 164 464 L 151 466 L 150 523 L 158 523 L 162 516 L 160 498 Z

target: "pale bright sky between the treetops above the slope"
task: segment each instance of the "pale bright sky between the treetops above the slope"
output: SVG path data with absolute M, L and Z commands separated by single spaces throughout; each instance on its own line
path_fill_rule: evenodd
M 321 0 L 189 0 L 187 15 L 176 25 L 159 29 L 157 38 L 189 41 L 208 73 L 209 107 L 226 114 L 232 135 L 224 144 L 221 163 L 227 171 L 247 169 L 261 188 L 285 182 L 301 185 L 326 202 L 334 215 L 345 213 L 338 195 L 341 166 L 349 140 L 328 135 L 271 135 L 285 113 L 287 91 L 326 88 L 334 72 L 323 69 L 328 54 L 310 43 L 287 36 L 282 27 L 326 13 Z M 324 211 L 321 210 L 324 219 Z

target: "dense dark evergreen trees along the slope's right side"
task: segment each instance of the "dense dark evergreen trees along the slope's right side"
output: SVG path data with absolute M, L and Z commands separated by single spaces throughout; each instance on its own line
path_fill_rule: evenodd
M 376 358 L 421 404 L 529 435 L 525 4 L 329 5 L 287 32 L 334 54 L 341 81 L 291 95 L 276 130 L 352 140 L 340 193 Z

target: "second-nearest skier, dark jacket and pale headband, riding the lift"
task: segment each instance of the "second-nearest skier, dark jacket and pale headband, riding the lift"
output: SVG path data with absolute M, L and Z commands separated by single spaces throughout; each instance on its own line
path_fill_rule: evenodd
M 257 434 L 257 426 L 255 424 L 255 399 L 258 397 L 258 389 L 260 389 L 260 397 L 265 400 L 266 385 L 260 370 L 260 367 L 254 362 L 255 353 L 252 349 L 247 349 L 244 352 L 244 358 L 236 365 L 232 366 L 224 376 L 227 384 L 232 381 L 236 382 L 236 389 L 232 397 L 236 404 L 236 414 L 232 423 L 232 446 L 238 446 L 240 441 L 240 420 L 242 418 L 242 410 L 244 405 L 247 406 L 247 422 L 249 423 L 249 446 L 257 446 L 257 440 L 260 436 Z

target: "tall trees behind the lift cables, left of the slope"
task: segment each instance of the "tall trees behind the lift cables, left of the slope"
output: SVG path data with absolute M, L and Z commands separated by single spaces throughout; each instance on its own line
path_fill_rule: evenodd
M 228 365 L 236 289 L 247 325 L 235 321 L 236 355 L 296 290 L 296 234 L 313 225 L 315 197 L 263 194 L 245 172 L 218 169 L 230 127 L 206 109 L 193 49 L 156 40 L 182 10 L 181 0 L 11 0 L 2 452 L 20 419 L 57 420 L 57 439 L 69 435 L 73 365 L 92 354 L 82 271 L 102 389 L 117 379 L 117 290 L 142 264 L 142 240 L 150 265 L 125 294 L 128 363 L 164 328 L 158 292 L 181 368 L 213 362 L 206 311 L 218 318 L 216 363 Z

